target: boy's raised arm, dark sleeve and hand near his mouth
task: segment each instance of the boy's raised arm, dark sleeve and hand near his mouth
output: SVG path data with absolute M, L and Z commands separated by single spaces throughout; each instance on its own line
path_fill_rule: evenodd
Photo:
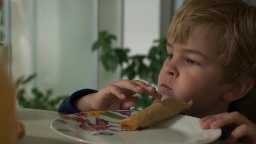
M 138 104 L 138 98 L 132 97 L 136 93 L 146 93 L 155 99 L 162 97 L 155 87 L 140 80 L 118 80 L 99 92 L 83 89 L 73 93 L 62 102 L 59 112 L 71 114 L 107 109 L 130 109 Z

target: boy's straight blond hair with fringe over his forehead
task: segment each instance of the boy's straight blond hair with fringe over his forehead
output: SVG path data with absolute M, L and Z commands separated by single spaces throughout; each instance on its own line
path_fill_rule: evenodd
M 219 52 L 218 60 L 224 69 L 221 82 L 248 77 L 256 82 L 255 6 L 242 0 L 188 0 L 173 16 L 167 40 L 184 43 L 196 29 L 204 29 L 205 36 Z M 255 85 L 247 96 L 256 94 Z M 232 105 L 240 109 L 239 103 L 235 101 Z

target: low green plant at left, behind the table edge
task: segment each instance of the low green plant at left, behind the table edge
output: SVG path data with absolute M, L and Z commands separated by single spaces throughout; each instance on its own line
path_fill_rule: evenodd
M 24 108 L 32 109 L 44 109 L 56 111 L 58 104 L 67 96 L 57 96 L 56 98 L 51 98 L 53 90 L 48 89 L 45 93 L 40 91 L 37 87 L 31 88 L 31 91 L 27 90 L 27 84 L 29 84 L 33 79 L 35 79 L 36 74 L 30 75 L 27 78 L 24 76 L 19 77 L 15 82 L 17 88 L 17 99 L 19 105 Z

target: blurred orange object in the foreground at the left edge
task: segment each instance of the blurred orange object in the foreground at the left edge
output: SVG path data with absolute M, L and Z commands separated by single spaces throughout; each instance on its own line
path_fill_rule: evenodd
M 15 88 L 7 69 L 7 48 L 0 47 L 0 144 L 16 144 L 25 131 L 16 119 Z

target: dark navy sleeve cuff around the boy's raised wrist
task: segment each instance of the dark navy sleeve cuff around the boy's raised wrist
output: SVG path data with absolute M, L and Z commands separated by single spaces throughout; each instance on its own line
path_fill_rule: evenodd
M 74 113 L 81 112 L 80 110 L 74 107 L 75 102 L 83 96 L 86 96 L 91 93 L 96 93 L 96 92 L 98 91 L 93 89 L 88 89 L 88 88 L 76 91 L 61 103 L 61 105 L 59 106 L 58 112 L 64 112 L 67 114 L 74 114 Z

